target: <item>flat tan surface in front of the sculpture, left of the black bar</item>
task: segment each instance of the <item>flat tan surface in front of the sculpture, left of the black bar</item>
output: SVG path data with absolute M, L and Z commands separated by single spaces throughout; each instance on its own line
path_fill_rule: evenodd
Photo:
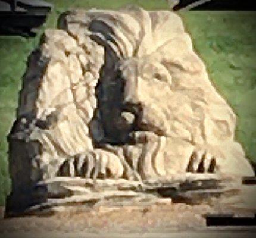
M 30 216 L 0 220 L 1 234 L 21 231 L 56 232 L 152 232 L 179 231 L 205 228 L 201 214 L 211 212 L 207 205 L 155 204 L 145 207 L 64 206 L 51 216 Z

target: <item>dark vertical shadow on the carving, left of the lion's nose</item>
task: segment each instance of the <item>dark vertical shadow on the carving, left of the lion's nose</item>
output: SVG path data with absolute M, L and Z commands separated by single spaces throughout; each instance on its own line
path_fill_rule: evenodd
M 111 37 L 113 30 L 105 23 L 96 20 L 92 21 L 89 29 L 96 33 L 91 36 L 92 40 L 104 46 L 105 49 L 104 65 L 101 68 L 95 92 L 98 108 L 89 123 L 90 134 L 96 147 L 106 143 L 124 145 L 130 143 L 133 122 L 130 123 L 122 116 L 127 109 L 124 105 L 125 80 L 119 69 L 120 58 L 106 42 L 110 40 L 115 43 Z M 98 34 L 104 36 L 105 40 Z

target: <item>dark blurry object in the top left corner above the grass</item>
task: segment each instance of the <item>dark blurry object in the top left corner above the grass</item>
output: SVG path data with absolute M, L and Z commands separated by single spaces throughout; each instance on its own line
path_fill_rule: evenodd
M 0 34 L 35 36 L 52 5 L 39 0 L 0 0 Z

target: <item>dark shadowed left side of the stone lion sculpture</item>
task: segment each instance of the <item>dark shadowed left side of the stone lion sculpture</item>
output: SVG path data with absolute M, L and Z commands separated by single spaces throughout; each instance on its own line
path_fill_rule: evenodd
M 28 206 L 46 201 L 45 188 L 35 189 L 36 184 L 43 179 L 39 167 L 41 145 L 36 140 L 30 140 L 29 136 L 40 123 L 36 119 L 36 99 L 48 58 L 40 50 L 35 50 L 30 55 L 28 64 L 20 92 L 17 120 L 8 136 L 12 191 L 7 199 L 7 214 L 10 211 L 24 211 Z

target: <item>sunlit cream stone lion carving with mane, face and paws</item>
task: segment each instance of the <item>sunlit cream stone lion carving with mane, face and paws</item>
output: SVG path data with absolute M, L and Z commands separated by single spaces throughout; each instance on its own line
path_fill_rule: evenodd
M 45 32 L 30 139 L 43 177 L 250 176 L 236 116 L 169 11 L 74 11 Z M 24 89 L 23 89 L 24 90 Z

